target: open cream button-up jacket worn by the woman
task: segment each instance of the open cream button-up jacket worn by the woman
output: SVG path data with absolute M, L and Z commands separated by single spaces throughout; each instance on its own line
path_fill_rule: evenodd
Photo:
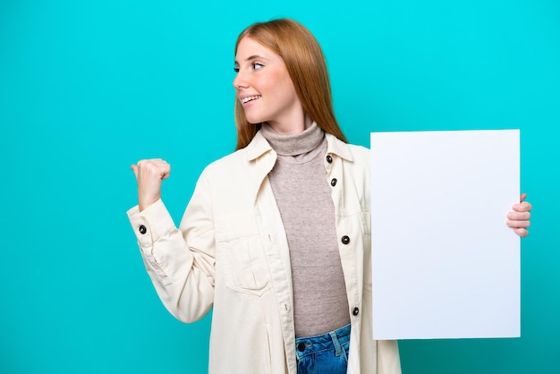
M 348 373 L 397 374 L 396 342 L 372 338 L 369 149 L 330 134 L 327 144 L 352 322 Z M 211 373 L 297 372 L 290 254 L 267 179 L 275 162 L 258 132 L 245 149 L 204 170 L 179 229 L 161 200 L 141 213 L 128 211 L 167 310 L 193 322 L 214 308 Z

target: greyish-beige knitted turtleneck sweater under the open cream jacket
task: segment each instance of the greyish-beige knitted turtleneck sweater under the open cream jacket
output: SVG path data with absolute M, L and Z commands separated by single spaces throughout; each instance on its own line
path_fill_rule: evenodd
M 317 123 L 295 135 L 278 134 L 263 124 L 261 133 L 278 155 L 268 179 L 290 247 L 295 335 L 343 327 L 350 315 L 324 166 L 325 133 Z

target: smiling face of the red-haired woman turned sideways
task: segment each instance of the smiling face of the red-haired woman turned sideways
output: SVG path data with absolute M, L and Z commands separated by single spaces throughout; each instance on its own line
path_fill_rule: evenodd
M 245 37 L 237 47 L 233 80 L 250 123 L 268 123 L 279 133 L 305 128 L 303 108 L 284 60 L 258 41 Z

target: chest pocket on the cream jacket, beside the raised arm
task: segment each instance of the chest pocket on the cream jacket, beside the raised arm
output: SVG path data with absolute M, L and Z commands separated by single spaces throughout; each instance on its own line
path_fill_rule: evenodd
M 216 281 L 260 295 L 270 285 L 267 258 L 253 212 L 216 217 Z

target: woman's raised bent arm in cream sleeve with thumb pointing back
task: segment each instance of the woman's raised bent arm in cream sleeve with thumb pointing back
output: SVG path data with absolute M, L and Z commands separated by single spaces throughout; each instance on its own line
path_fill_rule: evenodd
M 157 295 L 175 318 L 193 322 L 214 303 L 214 223 L 208 189 L 198 183 L 182 230 L 161 200 L 161 183 L 171 166 L 162 159 L 131 166 L 138 182 L 139 205 L 127 214 Z

